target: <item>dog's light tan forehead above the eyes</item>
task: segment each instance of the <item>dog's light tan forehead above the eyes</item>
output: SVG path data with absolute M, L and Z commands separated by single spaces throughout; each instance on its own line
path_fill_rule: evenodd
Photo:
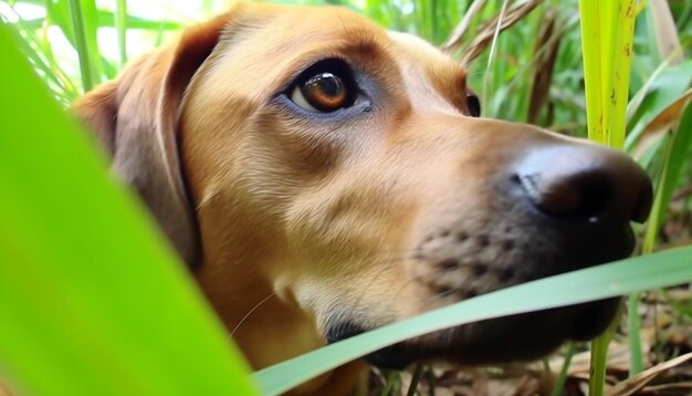
M 256 97 L 275 92 L 315 61 L 344 58 L 406 86 L 421 104 L 461 103 L 465 70 L 426 41 L 388 32 L 340 7 L 244 4 L 205 69 L 212 85 Z M 233 76 L 233 82 L 228 76 Z

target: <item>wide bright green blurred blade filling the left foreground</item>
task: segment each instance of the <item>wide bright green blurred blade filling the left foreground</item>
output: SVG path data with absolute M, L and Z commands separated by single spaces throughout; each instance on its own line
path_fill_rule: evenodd
M 256 394 L 172 250 L 8 29 L 0 23 L 0 383 L 25 395 Z

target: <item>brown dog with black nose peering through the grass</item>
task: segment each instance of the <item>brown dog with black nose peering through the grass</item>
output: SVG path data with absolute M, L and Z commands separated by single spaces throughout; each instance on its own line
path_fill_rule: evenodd
M 247 4 L 75 108 L 260 368 L 630 253 L 629 221 L 651 201 L 644 173 L 607 148 L 478 118 L 465 77 L 345 9 Z M 593 337 L 616 304 L 465 325 L 368 359 L 531 359 Z M 361 366 L 300 390 L 348 392 Z

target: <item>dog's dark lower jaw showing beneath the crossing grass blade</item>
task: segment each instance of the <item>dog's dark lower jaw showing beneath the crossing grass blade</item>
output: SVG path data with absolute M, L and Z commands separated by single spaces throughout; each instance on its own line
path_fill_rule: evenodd
M 594 338 L 612 321 L 619 302 L 611 299 L 464 324 L 394 344 L 365 359 L 392 369 L 420 361 L 462 365 L 528 362 L 553 352 L 564 341 Z M 356 321 L 335 323 L 327 341 L 334 343 L 365 331 Z

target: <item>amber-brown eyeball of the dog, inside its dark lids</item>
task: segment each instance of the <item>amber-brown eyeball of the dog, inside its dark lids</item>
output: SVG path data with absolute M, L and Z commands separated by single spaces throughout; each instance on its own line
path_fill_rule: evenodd
M 331 72 L 322 72 L 298 83 L 291 100 L 311 112 L 328 113 L 345 107 L 349 94 L 343 79 Z

